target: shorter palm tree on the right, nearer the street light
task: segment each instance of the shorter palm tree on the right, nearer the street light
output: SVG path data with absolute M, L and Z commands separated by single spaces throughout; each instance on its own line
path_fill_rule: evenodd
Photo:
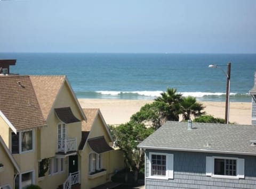
M 183 120 L 190 119 L 190 115 L 197 117 L 205 114 L 205 112 L 202 111 L 204 106 L 197 102 L 195 97 L 183 97 L 180 106 Z

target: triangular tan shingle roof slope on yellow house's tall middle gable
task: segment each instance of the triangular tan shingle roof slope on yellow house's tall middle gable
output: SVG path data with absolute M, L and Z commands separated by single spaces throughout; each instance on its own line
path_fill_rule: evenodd
M 33 83 L 37 99 L 42 109 L 42 113 L 45 119 L 53 106 L 58 92 L 66 79 L 65 75 L 42 75 L 42 76 L 30 76 Z

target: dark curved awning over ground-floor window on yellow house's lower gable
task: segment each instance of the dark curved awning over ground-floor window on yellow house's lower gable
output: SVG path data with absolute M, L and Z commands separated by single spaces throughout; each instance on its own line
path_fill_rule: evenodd
M 91 149 L 96 153 L 104 153 L 110 150 L 114 150 L 113 148 L 109 147 L 106 140 L 104 139 L 104 136 L 88 139 L 88 143 Z

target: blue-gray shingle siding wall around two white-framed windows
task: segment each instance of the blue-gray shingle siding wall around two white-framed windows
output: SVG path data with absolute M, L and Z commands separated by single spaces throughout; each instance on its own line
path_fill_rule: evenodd
M 174 155 L 173 179 L 152 179 L 149 176 L 149 152 L 171 153 Z M 244 179 L 212 178 L 206 176 L 206 156 L 236 157 L 245 160 Z M 146 151 L 146 189 L 156 188 L 255 188 L 256 157 L 236 156 L 233 154 Z

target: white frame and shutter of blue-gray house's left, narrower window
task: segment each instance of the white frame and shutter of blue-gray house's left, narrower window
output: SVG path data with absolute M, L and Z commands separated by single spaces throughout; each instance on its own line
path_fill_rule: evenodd
M 166 173 L 165 175 L 151 175 L 151 161 L 152 155 L 161 155 L 166 156 Z M 157 152 L 149 152 L 149 175 L 147 178 L 154 178 L 154 179 L 173 179 L 173 154 L 171 153 L 157 153 Z

